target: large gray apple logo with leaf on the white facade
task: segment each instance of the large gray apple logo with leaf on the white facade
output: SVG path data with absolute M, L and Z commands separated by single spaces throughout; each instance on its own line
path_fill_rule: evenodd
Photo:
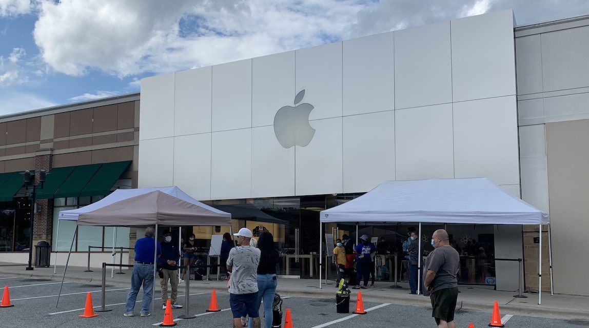
M 290 148 L 293 145 L 305 147 L 315 135 L 315 129 L 309 124 L 309 114 L 315 107 L 307 103 L 297 105 L 303 97 L 305 97 L 305 90 L 294 97 L 295 107 L 284 106 L 274 115 L 274 134 L 284 148 Z

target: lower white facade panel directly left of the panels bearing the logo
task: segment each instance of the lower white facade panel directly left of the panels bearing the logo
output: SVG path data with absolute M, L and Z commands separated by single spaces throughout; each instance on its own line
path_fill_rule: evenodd
M 211 199 L 252 196 L 252 129 L 213 132 Z

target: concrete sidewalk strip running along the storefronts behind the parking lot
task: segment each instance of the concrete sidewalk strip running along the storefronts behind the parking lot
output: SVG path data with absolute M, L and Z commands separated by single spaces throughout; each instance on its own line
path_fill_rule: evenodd
M 64 267 L 58 266 L 54 274 L 54 268 L 35 268 L 32 271 L 25 270 L 25 264 L 2 263 L 0 262 L 0 276 L 2 277 L 35 277 L 61 281 Z M 100 285 L 102 281 L 102 270 L 91 268 L 92 272 L 84 272 L 86 267 L 70 266 L 65 274 L 65 281 L 80 281 Z M 118 270 L 115 270 L 115 273 Z M 114 274 L 111 278 L 111 269 L 107 268 L 106 283 L 110 286 L 128 287 L 130 284 L 131 270 L 123 269 L 125 274 Z M 216 289 L 219 293 L 226 293 L 227 281 L 214 280 L 190 281 L 191 291 L 202 291 Z M 323 280 L 325 283 L 325 280 Z M 395 304 L 406 304 L 415 306 L 431 306 L 429 297 L 412 295 L 408 292 L 406 283 L 399 283 L 402 288 L 391 288 L 393 283 L 376 281 L 375 288 L 362 289 L 363 300 L 370 302 L 386 302 Z M 157 288 L 158 284 L 156 284 Z M 180 284 L 179 290 L 184 289 Z M 279 279 L 277 292 L 281 296 L 300 296 L 320 299 L 333 298 L 335 302 L 335 283 L 327 280 L 323 288 L 319 289 L 317 279 Z M 497 291 L 485 288 L 485 286 L 459 286 L 461 292 L 458 296 L 458 308 L 462 310 L 474 310 L 488 312 L 491 317 L 493 303 L 499 303 L 502 315 L 519 314 L 524 316 L 551 317 L 559 319 L 577 319 L 589 321 L 589 296 L 575 296 L 542 293 L 542 304 L 538 305 L 538 294 L 524 293 L 528 296 L 525 299 L 515 298 L 517 291 Z M 352 290 L 356 294 L 356 290 Z M 351 304 L 350 306 L 354 306 Z

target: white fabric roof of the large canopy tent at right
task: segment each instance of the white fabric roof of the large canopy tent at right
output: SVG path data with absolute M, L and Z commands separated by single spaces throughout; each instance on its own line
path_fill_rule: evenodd
M 548 224 L 548 214 L 488 178 L 385 181 L 368 193 L 321 211 L 326 222 Z

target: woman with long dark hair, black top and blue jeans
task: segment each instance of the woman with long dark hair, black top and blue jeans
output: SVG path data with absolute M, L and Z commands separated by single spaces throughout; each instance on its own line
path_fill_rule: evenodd
M 280 253 L 274 246 L 274 237 L 270 231 L 263 231 L 260 234 L 257 242 L 257 248 L 260 250 L 260 264 L 257 270 L 257 302 L 256 306 L 259 309 L 262 300 L 264 300 L 264 324 L 260 320 L 260 327 L 272 328 L 272 303 L 274 301 L 274 293 L 276 293 L 276 267 Z M 249 328 L 253 328 L 253 319 L 249 319 Z

